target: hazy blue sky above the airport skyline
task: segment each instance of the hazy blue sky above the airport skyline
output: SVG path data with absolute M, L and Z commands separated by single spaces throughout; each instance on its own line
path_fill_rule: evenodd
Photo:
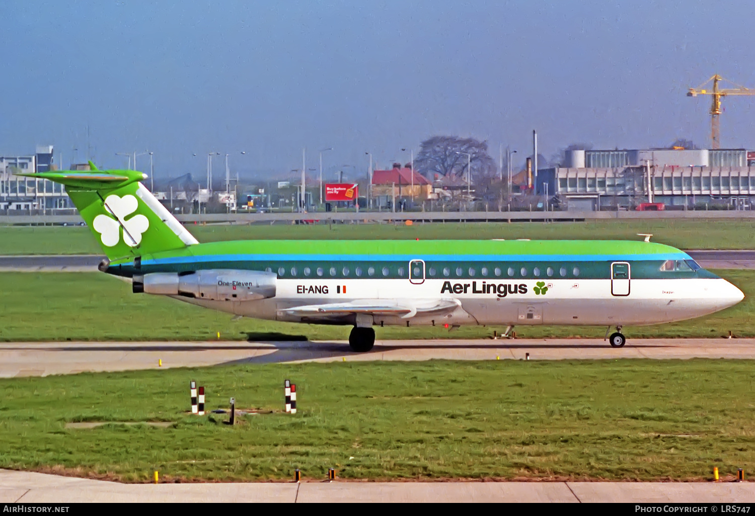
M 713 73 L 755 88 L 744 1 L 4 0 L 0 20 L 0 153 L 52 143 L 82 161 L 88 126 L 98 163 L 149 149 L 156 176 L 201 177 L 211 151 L 285 174 L 303 147 L 307 167 L 333 147 L 328 174 L 366 174 L 365 152 L 408 161 L 433 134 L 498 160 L 535 128 L 545 155 L 709 146 L 709 97 L 687 88 Z M 722 146 L 755 148 L 755 98 L 724 106 Z

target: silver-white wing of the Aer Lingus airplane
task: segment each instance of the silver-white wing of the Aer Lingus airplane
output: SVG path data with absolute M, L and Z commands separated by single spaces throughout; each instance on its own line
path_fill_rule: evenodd
M 333 318 L 350 314 L 398 316 L 402 319 L 414 316 L 450 314 L 461 306 L 458 299 L 357 299 L 349 303 L 294 306 L 279 310 L 282 314 L 306 318 Z

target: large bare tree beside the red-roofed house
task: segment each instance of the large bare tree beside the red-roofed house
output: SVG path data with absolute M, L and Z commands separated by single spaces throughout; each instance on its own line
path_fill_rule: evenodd
M 498 171 L 488 155 L 488 144 L 474 138 L 434 136 L 421 143 L 414 158 L 414 169 L 430 180 L 435 179 L 435 174 L 466 177 L 467 164 L 472 167 L 473 178 L 492 177 Z

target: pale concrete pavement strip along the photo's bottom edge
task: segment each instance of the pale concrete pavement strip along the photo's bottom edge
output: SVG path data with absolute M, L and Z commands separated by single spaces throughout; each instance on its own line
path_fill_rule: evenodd
M 0 503 L 684 502 L 746 503 L 755 484 L 661 482 L 301 482 L 118 484 L 0 470 Z

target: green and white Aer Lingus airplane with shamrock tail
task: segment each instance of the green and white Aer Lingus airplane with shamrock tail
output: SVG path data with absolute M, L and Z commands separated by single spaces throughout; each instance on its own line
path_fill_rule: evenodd
M 644 241 L 222 241 L 200 244 L 136 170 L 20 176 L 61 183 L 134 293 L 248 318 L 352 326 L 354 352 L 375 326 L 607 327 L 660 324 L 726 309 L 744 294 L 683 251 Z M 612 327 L 615 332 L 608 336 Z

